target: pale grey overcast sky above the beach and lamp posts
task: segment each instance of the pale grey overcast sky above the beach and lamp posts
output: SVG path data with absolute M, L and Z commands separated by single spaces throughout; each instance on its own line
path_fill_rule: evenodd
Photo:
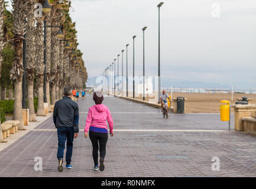
M 189 81 L 256 88 L 255 0 L 163 1 L 164 5 L 161 7 L 163 80 L 170 80 L 170 86 L 177 81 Z M 141 76 L 144 26 L 148 27 L 145 31 L 145 74 L 157 76 L 157 4 L 160 2 L 158 0 L 72 1 L 71 16 L 76 22 L 79 48 L 83 52 L 89 77 L 101 75 L 128 43 L 130 44 L 128 71 L 131 75 L 133 35 L 137 35 L 135 74 Z M 218 6 L 220 12 L 219 17 L 216 17 Z M 125 58 L 126 53 L 124 53 L 124 65 L 126 65 Z M 242 84 L 243 82 L 246 84 Z

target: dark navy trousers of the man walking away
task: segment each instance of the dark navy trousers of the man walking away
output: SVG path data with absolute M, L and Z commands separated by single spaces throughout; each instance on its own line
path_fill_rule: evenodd
M 63 159 L 65 143 L 67 139 L 66 163 L 70 164 L 73 151 L 74 128 L 73 127 L 60 127 L 57 128 L 58 134 L 58 152 L 57 158 Z

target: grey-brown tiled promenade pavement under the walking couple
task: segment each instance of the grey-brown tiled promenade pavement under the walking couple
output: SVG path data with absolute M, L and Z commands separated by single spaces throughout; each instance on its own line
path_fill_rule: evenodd
M 113 97 L 105 97 L 104 103 L 112 112 L 115 133 L 109 137 L 105 171 L 92 170 L 92 145 L 80 131 L 74 139 L 73 170 L 58 172 L 57 133 L 50 118 L 0 152 L 0 177 L 256 177 L 256 137 L 229 132 L 218 114 L 171 114 L 163 119 L 153 107 Z M 80 99 L 80 129 L 92 105 L 92 96 Z M 34 171 L 35 157 L 43 159 L 43 171 Z M 212 171 L 212 157 L 219 157 L 220 171 Z

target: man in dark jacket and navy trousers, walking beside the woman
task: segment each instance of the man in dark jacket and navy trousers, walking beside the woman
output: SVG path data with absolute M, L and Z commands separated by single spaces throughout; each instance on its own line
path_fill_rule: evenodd
M 72 88 L 64 87 L 63 99 L 58 100 L 54 105 L 53 122 L 57 128 L 58 134 L 58 152 L 57 158 L 59 159 L 58 170 L 63 171 L 63 155 L 67 139 L 67 152 L 66 152 L 66 168 L 73 168 L 70 165 L 73 151 L 73 139 L 78 137 L 79 132 L 79 107 L 76 102 L 71 99 Z

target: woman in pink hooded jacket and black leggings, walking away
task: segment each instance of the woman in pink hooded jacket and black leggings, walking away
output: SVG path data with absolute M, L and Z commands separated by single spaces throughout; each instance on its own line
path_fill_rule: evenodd
M 108 125 L 109 133 L 114 136 L 113 133 L 113 119 L 107 106 L 102 104 L 103 94 L 101 92 L 95 92 L 93 94 L 93 100 L 95 101 L 94 106 L 89 108 L 88 116 L 85 124 L 85 138 L 88 138 L 88 131 L 90 141 L 92 141 L 92 156 L 94 161 L 95 171 L 103 171 L 104 158 L 106 155 L 106 142 L 108 141 Z M 108 120 L 108 125 L 106 121 Z M 98 151 L 99 151 L 99 162 L 98 165 Z

